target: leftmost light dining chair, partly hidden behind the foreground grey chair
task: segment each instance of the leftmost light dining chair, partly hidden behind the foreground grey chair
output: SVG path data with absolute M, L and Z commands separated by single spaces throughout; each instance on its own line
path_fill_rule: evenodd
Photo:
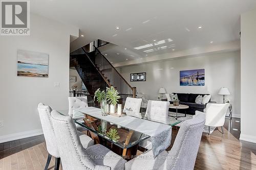
M 48 159 L 46 162 L 45 170 L 48 169 L 52 156 L 55 157 L 55 169 L 58 169 L 59 163 L 60 163 L 60 155 L 59 155 L 56 137 L 55 137 L 52 120 L 51 120 L 52 109 L 50 106 L 46 106 L 43 103 L 39 103 L 37 109 L 38 109 L 38 113 L 41 121 L 42 131 L 45 136 L 46 148 L 48 151 Z M 90 138 L 87 135 L 82 134 L 79 136 L 79 139 L 81 140 L 82 146 L 84 148 L 88 148 L 94 144 L 94 141 L 92 140 L 92 138 Z

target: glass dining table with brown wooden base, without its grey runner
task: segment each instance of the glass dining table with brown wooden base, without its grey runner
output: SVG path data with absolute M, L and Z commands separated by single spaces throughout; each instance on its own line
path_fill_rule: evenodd
M 69 110 L 58 110 L 58 112 L 62 115 L 69 115 Z M 150 138 L 144 133 L 120 126 L 92 114 L 89 115 L 83 111 L 73 110 L 72 118 L 75 124 L 87 130 L 87 134 L 94 139 L 95 144 L 103 144 L 126 159 L 132 159 L 136 156 L 139 143 Z M 179 123 L 181 123 L 180 120 L 170 118 L 167 125 L 175 126 Z

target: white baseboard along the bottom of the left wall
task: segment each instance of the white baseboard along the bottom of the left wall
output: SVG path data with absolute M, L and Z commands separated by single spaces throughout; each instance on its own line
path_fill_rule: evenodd
M 23 138 L 31 137 L 31 136 L 37 136 L 37 135 L 41 135 L 41 134 L 43 134 L 42 129 L 35 129 L 35 130 L 31 130 L 31 131 L 3 135 L 3 136 L 0 136 L 0 143 L 17 140 L 17 139 L 23 139 Z

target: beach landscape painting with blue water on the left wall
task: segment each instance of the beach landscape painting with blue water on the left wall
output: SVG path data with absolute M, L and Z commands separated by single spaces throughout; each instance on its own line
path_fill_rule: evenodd
M 48 54 L 18 50 L 17 62 L 17 76 L 48 77 Z

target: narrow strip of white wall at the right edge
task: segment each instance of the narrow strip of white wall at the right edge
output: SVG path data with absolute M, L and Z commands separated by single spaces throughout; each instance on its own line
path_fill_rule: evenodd
M 241 16 L 241 140 L 256 143 L 256 10 Z

